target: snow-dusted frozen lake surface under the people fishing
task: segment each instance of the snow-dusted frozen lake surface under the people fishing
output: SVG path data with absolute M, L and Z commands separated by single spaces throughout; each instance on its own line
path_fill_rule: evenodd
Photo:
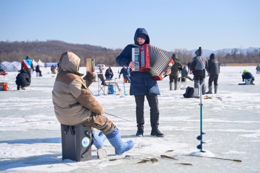
M 114 78 L 118 68 L 112 67 Z M 0 91 L 0 172 L 259 172 L 260 166 L 260 74 L 255 66 L 220 67 L 218 94 L 209 94 L 211 99 L 203 102 L 203 150 L 196 148 L 200 142 L 200 99 L 184 98 L 185 90 L 169 90 L 169 77 L 159 81 L 159 129 L 164 138 L 150 136 L 149 106 L 145 99 L 144 137 L 135 137 L 135 99 L 129 95 L 129 83 L 124 86 L 117 79 L 120 95 L 98 95 L 98 82 L 90 90 L 109 114 L 105 114 L 118 127 L 124 141 L 133 140 L 133 149 L 116 156 L 114 148 L 105 140 L 106 160 L 97 159 L 92 146 L 92 160 L 75 162 L 62 160 L 60 123 L 54 114 L 51 91 L 56 74 L 50 67 L 42 70 L 42 77 L 32 75 L 31 85 L 26 90 L 16 91 L 15 77 L 18 72 L 0 76 L 0 82 L 8 82 L 9 91 Z M 242 83 L 241 72 L 248 69 L 255 76 L 255 85 Z M 81 67 L 84 73 L 86 67 Z M 105 72 L 105 71 L 103 71 Z M 189 74 L 191 77 L 193 75 Z M 206 77 L 208 86 L 208 77 Z M 187 81 L 186 86 L 194 86 Z M 213 89 L 214 90 L 214 89 Z M 118 93 L 118 90 L 116 90 Z M 204 98 L 204 96 L 203 96 Z M 167 150 L 174 150 L 166 153 Z M 223 159 L 238 159 L 235 162 L 223 159 L 185 156 L 192 154 Z M 118 161 L 109 159 L 131 155 Z M 168 155 L 179 160 L 163 159 Z M 136 164 L 140 159 L 157 157 L 157 163 Z M 182 166 L 174 163 L 190 163 Z

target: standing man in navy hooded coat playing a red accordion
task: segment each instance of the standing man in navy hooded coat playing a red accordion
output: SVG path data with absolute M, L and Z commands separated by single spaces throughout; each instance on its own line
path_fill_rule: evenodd
M 132 61 L 131 48 L 137 48 L 144 44 L 149 44 L 150 38 L 144 28 L 138 28 L 134 35 L 134 44 L 129 44 L 116 57 L 116 63 L 120 66 L 129 66 L 131 69 L 135 67 Z M 166 75 L 169 75 L 170 69 L 167 69 Z M 150 106 L 150 122 L 151 122 L 151 135 L 157 137 L 164 137 L 158 129 L 159 126 L 159 108 L 158 97 L 160 95 L 159 87 L 153 77 L 147 72 L 130 72 L 130 95 L 135 96 L 136 103 L 136 122 L 137 133 L 135 136 L 142 137 L 144 133 L 144 96 Z

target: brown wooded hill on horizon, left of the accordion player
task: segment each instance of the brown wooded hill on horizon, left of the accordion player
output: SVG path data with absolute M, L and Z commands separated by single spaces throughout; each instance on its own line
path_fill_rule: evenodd
M 107 49 L 89 44 L 70 44 L 58 40 L 46 42 L 0 42 L 1 61 L 21 62 L 27 55 L 36 62 L 58 62 L 63 52 L 70 51 L 81 58 L 81 66 L 86 66 L 87 58 L 95 58 L 96 64 L 116 66 L 116 57 L 121 49 Z

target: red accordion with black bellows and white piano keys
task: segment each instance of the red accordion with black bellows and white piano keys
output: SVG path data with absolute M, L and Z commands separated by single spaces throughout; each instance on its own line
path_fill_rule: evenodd
M 168 54 L 150 44 L 132 48 L 132 61 L 135 63 L 132 72 L 148 72 L 154 80 L 162 80 L 174 64 Z

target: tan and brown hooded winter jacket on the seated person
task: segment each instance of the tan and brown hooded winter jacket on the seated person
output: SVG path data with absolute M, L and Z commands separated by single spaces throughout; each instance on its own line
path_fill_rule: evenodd
M 79 64 L 80 58 L 72 52 L 65 52 L 60 58 L 60 73 L 53 86 L 52 101 L 61 124 L 81 125 L 92 112 L 101 114 L 103 110 L 88 89 L 94 76 L 88 73 L 81 78 Z

